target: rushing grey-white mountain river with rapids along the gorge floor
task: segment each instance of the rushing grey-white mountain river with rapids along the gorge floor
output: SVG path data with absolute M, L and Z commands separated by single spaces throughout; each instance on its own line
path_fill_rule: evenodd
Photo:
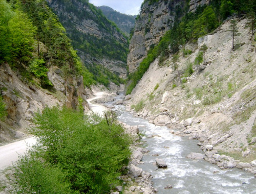
M 120 98 L 118 96 L 116 100 Z M 237 168 L 222 170 L 204 160 L 187 159 L 186 155 L 191 152 L 203 153 L 197 146 L 197 140 L 170 134 L 167 127 L 155 126 L 145 119 L 134 117 L 122 105 L 111 102 L 106 106 L 114 106 L 121 122 L 137 125 L 141 133 L 145 134 L 142 141 L 145 141 L 144 147 L 150 152 L 144 154 L 143 164 L 138 167 L 152 174 L 153 186 L 158 193 L 256 193 L 256 178 L 251 173 Z M 157 136 L 147 138 L 153 134 Z M 159 156 L 153 156 L 156 154 Z M 156 158 L 163 159 L 168 167 L 158 169 L 153 164 Z M 164 189 L 169 184 L 173 188 Z

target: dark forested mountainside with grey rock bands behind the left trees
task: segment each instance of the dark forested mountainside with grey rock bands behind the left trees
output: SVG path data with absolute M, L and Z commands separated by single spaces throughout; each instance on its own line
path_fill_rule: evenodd
M 47 2 L 87 66 L 100 64 L 120 77 L 126 77 L 127 39 L 100 10 L 88 1 Z

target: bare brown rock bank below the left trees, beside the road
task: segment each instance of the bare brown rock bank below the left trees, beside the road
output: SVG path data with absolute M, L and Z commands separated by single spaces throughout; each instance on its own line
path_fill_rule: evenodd
M 53 92 L 22 81 L 7 63 L 0 65 L 0 91 L 8 113 L 5 121 L 0 121 L 0 143 L 26 136 L 35 112 L 46 106 L 67 105 L 75 109 L 80 97 L 88 109 L 82 77 L 65 80 L 57 67 L 49 69 L 48 77 L 54 85 Z

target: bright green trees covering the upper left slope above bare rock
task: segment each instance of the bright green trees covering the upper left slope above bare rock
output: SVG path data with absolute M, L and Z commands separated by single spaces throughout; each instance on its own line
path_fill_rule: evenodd
M 84 83 L 93 83 L 89 71 L 82 67 L 71 46 L 66 30 L 44 0 L 0 1 L 0 62 L 8 62 L 25 81 L 39 80 L 45 88 L 52 86 L 48 68 L 58 66 L 65 75 L 83 75 Z

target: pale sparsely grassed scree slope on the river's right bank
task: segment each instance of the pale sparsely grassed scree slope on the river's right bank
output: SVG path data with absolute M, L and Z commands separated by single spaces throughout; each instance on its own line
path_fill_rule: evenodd
M 202 149 L 211 151 L 206 152 L 210 162 L 246 169 L 254 163 L 241 167 L 238 160 L 220 160 L 219 155 L 214 155 L 218 151 L 243 162 L 256 159 L 256 43 L 247 19 L 234 19 L 238 20 L 240 33 L 235 50 L 227 20 L 214 33 L 186 44 L 183 51 L 191 50 L 191 54 L 179 52 L 182 83 L 172 55 L 162 66 L 156 59 L 126 103 L 152 123 L 179 129 L 177 135 L 198 139 Z M 205 63 L 194 65 L 195 72 L 185 76 L 203 44 L 208 47 Z

